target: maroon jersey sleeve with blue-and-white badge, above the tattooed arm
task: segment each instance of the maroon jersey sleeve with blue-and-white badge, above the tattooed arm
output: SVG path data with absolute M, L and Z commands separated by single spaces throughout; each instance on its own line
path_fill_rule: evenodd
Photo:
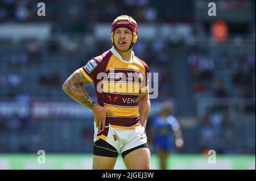
M 85 66 L 80 68 L 80 71 L 90 82 L 96 81 L 97 74 L 100 73 L 100 62 L 97 59 L 92 59 Z

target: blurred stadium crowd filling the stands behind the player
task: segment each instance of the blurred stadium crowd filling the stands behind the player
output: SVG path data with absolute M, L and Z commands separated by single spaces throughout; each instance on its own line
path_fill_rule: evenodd
M 111 47 L 110 33 L 109 40 L 96 36 L 85 40 L 81 34 L 72 32 L 90 34 L 94 24 L 110 23 L 117 15 L 129 14 L 139 23 L 156 26 L 161 23 L 198 24 L 192 35 L 196 37 L 196 43 L 160 36 L 144 40 L 138 34 L 134 46 L 135 54 L 147 62 L 150 71 L 159 73 L 159 98 L 152 100 L 152 109 L 155 109 L 154 103 L 171 98 L 175 100 L 178 119 L 190 116 L 196 120 L 196 126 L 191 128 L 186 127 L 185 120 L 181 123 L 185 142 L 181 152 L 204 153 L 214 149 L 218 153 L 255 154 L 255 120 L 251 120 L 251 117 L 255 119 L 255 23 L 254 36 L 242 32 L 242 38 L 228 39 L 218 45 L 199 38 L 204 34 L 204 40 L 214 41 L 209 27 L 200 29 L 203 23 L 195 20 L 192 1 L 169 2 L 168 7 L 163 7 L 163 1 L 90 0 L 86 2 L 86 11 L 79 8 L 81 1 L 76 1 L 75 5 L 65 1 L 63 7 L 67 7 L 67 16 L 71 20 L 68 24 L 58 23 L 61 15 L 58 1 L 44 1 L 47 15 L 42 18 L 36 15 L 38 2 L 0 1 L 1 23 L 48 22 L 53 26 L 53 35 L 46 40 L 0 39 L 0 152 L 92 151 L 91 117 L 74 120 L 72 116 L 67 119 L 50 115 L 42 118 L 35 116 L 38 112 L 31 113 L 29 109 L 38 105 L 35 100 L 72 102 L 61 90 L 65 79 L 91 57 Z M 243 11 L 253 1 L 220 2 Z M 64 36 L 58 36 L 58 33 Z M 249 43 L 243 41 L 246 37 L 249 37 Z M 86 90 L 95 99 L 93 85 L 86 86 Z M 202 99 L 206 103 L 200 104 Z M 40 108 L 42 110 L 37 111 L 44 112 L 45 107 Z

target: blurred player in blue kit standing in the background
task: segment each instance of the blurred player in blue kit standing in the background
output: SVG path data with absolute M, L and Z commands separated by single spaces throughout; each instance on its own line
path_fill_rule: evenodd
M 171 151 L 181 148 L 184 144 L 180 125 L 173 116 L 174 106 L 172 102 L 166 101 L 159 116 L 154 117 L 151 126 L 151 137 L 154 149 L 160 158 L 160 168 L 166 169 L 166 162 Z

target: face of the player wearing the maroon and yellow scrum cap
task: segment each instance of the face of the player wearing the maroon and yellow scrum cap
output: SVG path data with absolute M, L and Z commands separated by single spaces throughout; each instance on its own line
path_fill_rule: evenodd
M 118 50 L 126 51 L 133 41 L 133 33 L 128 28 L 117 28 L 114 32 L 114 43 Z

